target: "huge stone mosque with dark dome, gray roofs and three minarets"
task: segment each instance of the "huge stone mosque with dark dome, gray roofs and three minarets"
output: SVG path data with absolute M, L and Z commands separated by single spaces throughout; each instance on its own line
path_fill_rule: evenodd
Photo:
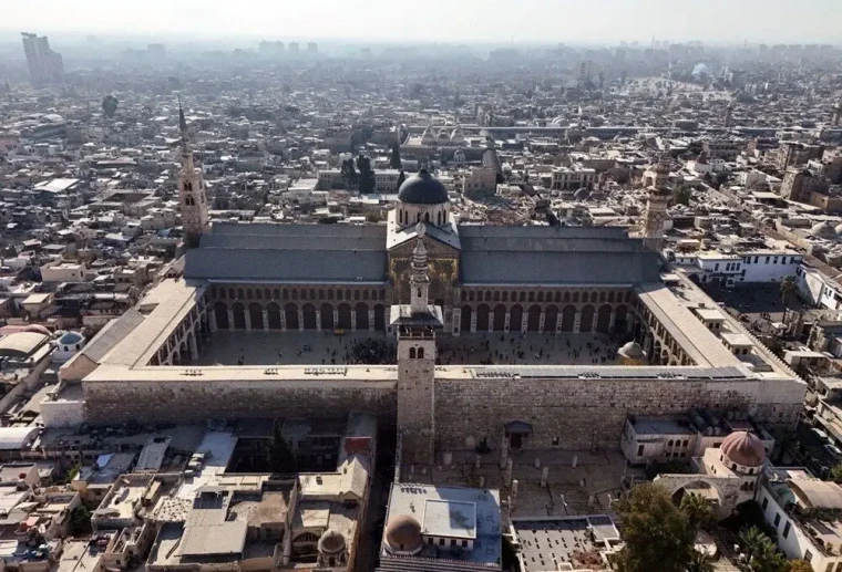
M 637 237 L 460 225 L 424 169 L 400 187 L 386 225 L 210 226 L 183 115 L 181 127 L 184 279 L 161 282 L 65 364 L 86 423 L 371 413 L 397 427 L 405 461 L 430 464 L 479 443 L 501 455 L 617 448 L 629 415 L 692 407 L 797 422 L 804 383 L 663 266 L 660 164 Z M 189 365 L 219 331 L 243 343 L 255 331 L 368 331 L 397 337 L 397 364 Z M 625 343 L 617 363 L 437 362 L 440 339 L 593 333 Z

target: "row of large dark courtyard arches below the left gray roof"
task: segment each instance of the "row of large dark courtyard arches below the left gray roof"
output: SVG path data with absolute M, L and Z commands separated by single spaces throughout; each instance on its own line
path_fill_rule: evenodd
M 333 305 L 287 303 L 281 306 L 275 302 L 265 308 L 257 302 L 246 305 L 234 302 L 228 306 L 225 302 L 214 303 L 214 319 L 217 330 L 373 330 L 386 331 L 386 306 L 374 304 L 373 319 L 369 305 L 358 303 Z

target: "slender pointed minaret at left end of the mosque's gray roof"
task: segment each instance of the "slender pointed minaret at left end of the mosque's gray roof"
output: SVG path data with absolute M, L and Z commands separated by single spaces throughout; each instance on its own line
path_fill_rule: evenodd
M 182 100 L 178 98 L 178 127 L 182 134 L 182 170 L 178 174 L 178 205 L 182 210 L 184 243 L 187 248 L 198 246 L 208 229 L 207 194 L 202 171 L 193 163 L 187 121 L 184 118 Z

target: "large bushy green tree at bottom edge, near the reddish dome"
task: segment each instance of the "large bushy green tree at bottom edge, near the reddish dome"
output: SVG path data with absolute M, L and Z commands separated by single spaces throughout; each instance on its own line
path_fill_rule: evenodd
M 646 482 L 619 502 L 626 545 L 617 557 L 620 572 L 685 572 L 692 560 L 696 533 L 669 492 Z

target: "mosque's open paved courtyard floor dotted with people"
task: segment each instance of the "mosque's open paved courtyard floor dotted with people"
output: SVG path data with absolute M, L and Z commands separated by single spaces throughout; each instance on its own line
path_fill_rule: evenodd
M 353 345 L 373 339 L 394 345 L 381 332 L 266 332 L 219 330 L 207 339 L 195 365 L 345 365 Z M 628 340 L 599 333 L 471 333 L 440 335 L 438 362 L 505 365 L 613 365 Z

